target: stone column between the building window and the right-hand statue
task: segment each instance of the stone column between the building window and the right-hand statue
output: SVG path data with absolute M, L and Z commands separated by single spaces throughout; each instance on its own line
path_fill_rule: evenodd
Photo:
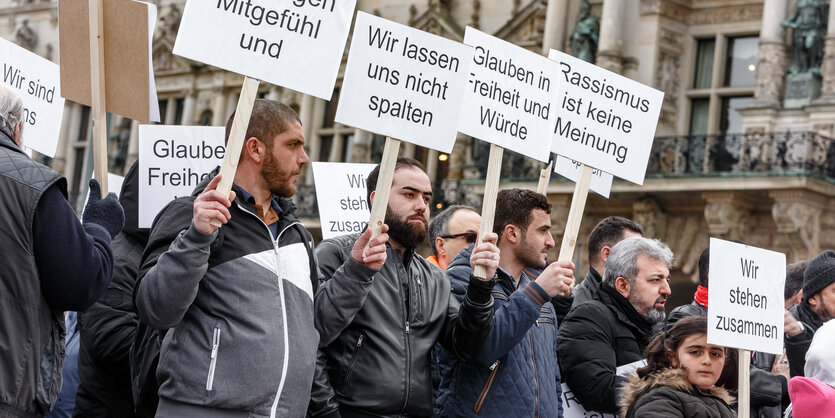
M 788 54 L 780 22 L 786 20 L 787 9 L 788 0 L 765 0 L 763 4 L 757 87 L 754 90 L 754 103 L 750 107 L 782 107 L 780 96 L 786 80 Z

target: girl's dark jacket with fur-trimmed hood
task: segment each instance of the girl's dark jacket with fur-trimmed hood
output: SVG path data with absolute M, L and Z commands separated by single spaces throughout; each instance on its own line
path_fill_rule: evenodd
M 665 389 L 679 392 L 675 396 L 678 399 L 674 400 L 669 394 L 653 392 Z M 643 399 L 644 397 L 647 399 Z M 665 402 L 664 398 L 669 399 Z M 707 391 L 701 390 L 687 381 L 684 369 L 670 368 L 643 379 L 638 377 L 637 373 L 630 375 L 621 389 L 619 404 L 622 417 L 645 416 L 648 413 L 669 416 L 664 415 L 664 412 L 670 408 L 680 410 L 681 416 L 685 417 L 728 417 L 735 416 L 729 406 L 733 402 L 733 396 L 724 388 L 714 386 Z M 638 414 L 633 406 L 644 406 L 645 409 L 641 409 Z

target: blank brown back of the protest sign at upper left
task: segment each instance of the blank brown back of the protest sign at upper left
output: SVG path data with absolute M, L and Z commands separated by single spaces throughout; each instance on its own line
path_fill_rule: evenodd
M 61 94 L 93 106 L 91 27 L 87 1 L 58 2 Z M 102 27 L 106 110 L 143 123 L 159 122 L 151 48 L 157 8 L 133 0 L 104 2 Z M 93 33 L 96 31 L 94 30 Z

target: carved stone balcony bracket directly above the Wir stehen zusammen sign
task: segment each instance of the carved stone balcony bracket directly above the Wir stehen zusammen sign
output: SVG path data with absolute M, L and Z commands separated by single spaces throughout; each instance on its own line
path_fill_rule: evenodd
M 744 192 L 703 192 L 707 232 L 712 237 L 738 240 L 747 235 L 753 199 Z

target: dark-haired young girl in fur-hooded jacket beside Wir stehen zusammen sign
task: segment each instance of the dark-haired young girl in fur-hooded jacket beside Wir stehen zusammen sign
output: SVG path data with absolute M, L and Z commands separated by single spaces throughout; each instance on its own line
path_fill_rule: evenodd
M 688 316 L 646 349 L 647 365 L 621 390 L 621 416 L 736 417 L 733 397 L 714 386 L 725 364 L 725 348 L 707 343 L 707 318 Z

